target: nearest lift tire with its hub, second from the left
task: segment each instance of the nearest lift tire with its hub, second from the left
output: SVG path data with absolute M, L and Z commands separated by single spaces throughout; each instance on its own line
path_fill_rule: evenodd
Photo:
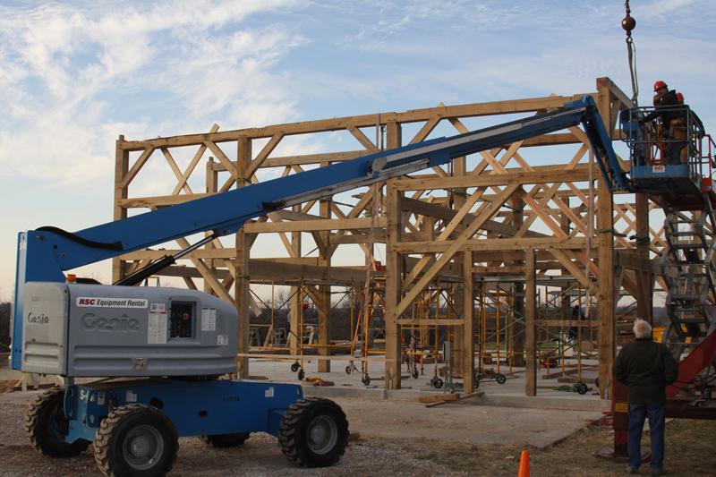
M 174 424 L 149 405 L 116 408 L 99 425 L 95 439 L 95 461 L 107 477 L 166 475 L 177 450 Z

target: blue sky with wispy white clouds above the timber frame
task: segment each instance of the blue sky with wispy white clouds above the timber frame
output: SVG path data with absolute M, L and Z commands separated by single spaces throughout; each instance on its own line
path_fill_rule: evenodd
M 707 0 L 632 2 L 641 102 L 665 80 L 709 131 L 715 11 Z M 12 296 L 18 231 L 111 219 L 119 134 L 574 94 L 598 76 L 629 93 L 623 16 L 621 1 L 5 0 L 0 299 Z

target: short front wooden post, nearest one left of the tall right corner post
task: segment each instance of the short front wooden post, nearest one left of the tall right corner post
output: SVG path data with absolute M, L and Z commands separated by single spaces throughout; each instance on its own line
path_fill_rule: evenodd
M 524 251 L 524 395 L 537 396 L 537 277 L 533 249 Z

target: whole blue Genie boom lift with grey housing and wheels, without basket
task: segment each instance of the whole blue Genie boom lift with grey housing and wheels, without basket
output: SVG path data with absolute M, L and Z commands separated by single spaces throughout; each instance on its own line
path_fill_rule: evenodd
M 39 395 L 26 430 L 48 456 L 75 456 L 94 442 L 106 475 L 159 475 L 175 460 L 178 436 L 237 446 L 250 432 L 277 436 L 307 466 L 334 464 L 348 422 L 300 386 L 218 379 L 235 371 L 234 307 L 197 291 L 135 287 L 171 264 L 165 257 L 115 285 L 72 283 L 64 270 L 211 231 L 181 253 L 271 210 L 446 164 L 581 124 L 612 188 L 626 188 L 592 98 L 476 132 L 405 146 L 298 175 L 192 200 L 75 233 L 41 227 L 19 234 L 13 309 L 13 369 L 63 376 L 66 388 Z M 87 384 L 75 378 L 103 377 Z M 118 378 L 124 378 L 120 380 Z

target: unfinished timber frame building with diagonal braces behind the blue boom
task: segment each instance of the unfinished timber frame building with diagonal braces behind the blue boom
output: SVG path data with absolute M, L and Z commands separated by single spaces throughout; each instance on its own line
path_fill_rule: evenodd
M 482 116 L 480 121 L 495 124 L 504 121 L 499 115 L 541 113 L 584 94 L 596 100 L 604 124 L 618 140 L 618 113 L 632 103 L 609 78 L 598 78 L 596 91 L 567 97 L 439 105 L 226 132 L 219 132 L 215 124 L 206 133 L 146 141 L 126 141 L 120 136 L 116 141 L 114 216 L 120 219 L 144 211 L 141 209 L 169 207 L 257 183 L 260 177 L 291 175 L 305 167 L 420 142 L 439 127 L 468 132 L 471 118 Z M 417 131 L 405 137 L 408 130 Z M 321 139 L 315 138 L 325 138 L 320 136 L 325 132 L 353 138 L 361 149 L 273 154 L 295 138 L 320 143 Z M 531 158 L 536 151 L 538 158 Z M 141 189 L 138 184 L 143 175 L 156 180 L 160 162 L 168 165 L 161 182 L 171 182 L 164 194 L 132 196 L 135 185 Z M 149 166 L 153 164 L 157 166 Z M 534 396 L 537 389 L 538 327 L 584 326 L 569 317 L 541 319 L 538 288 L 576 286 L 596 303 L 600 391 L 602 397 L 609 397 L 619 296 L 633 296 L 639 315 L 651 319 L 654 283 L 661 273 L 652 258 L 664 245 L 663 231 L 649 227 L 649 212 L 655 205 L 641 194 L 624 197 L 626 201 L 614 200 L 594 166 L 586 135 L 570 128 L 458 158 L 447 167 L 391 179 L 357 195 L 345 193 L 271 212 L 246 223 L 233 243 L 227 244 L 226 238 L 224 242 L 215 240 L 162 275 L 181 277 L 192 289 L 203 287 L 234 303 L 240 317 L 241 377 L 249 372 L 250 319 L 256 311 L 251 284 L 290 285 L 290 355 L 301 345 L 298 336 L 302 334 L 297 330 L 306 296 L 318 311 L 318 353 L 327 356 L 320 359 L 319 371 L 330 371 L 331 287 L 362 286 L 371 279 L 374 245 L 385 243 L 386 388 L 401 386 L 401 329 L 435 326 L 451 330 L 453 360 L 466 392 L 474 386 L 475 343 L 482 339 L 480 327 L 475 326 L 475 303 L 481 287 L 507 283 L 516 296 L 524 296 L 524 301 L 516 304 L 520 319 L 515 323 L 518 332 L 513 334 L 511 349 L 516 365 L 526 368 L 528 396 Z M 251 258 L 251 246 L 261 234 L 275 234 L 283 250 L 271 251 L 269 258 Z M 310 234 L 312 243 L 303 240 L 305 234 Z M 307 243 L 312 249 L 308 253 Z M 187 240 L 178 239 L 172 246 L 175 250 L 168 252 L 187 246 Z M 340 255 L 337 251 L 348 246 L 360 251 L 354 257 L 358 255 L 361 261 L 334 266 L 332 260 Z M 135 251 L 115 259 L 113 281 L 166 253 Z M 449 304 L 456 312 L 449 318 L 417 316 L 415 303 L 425 290 L 447 283 L 451 284 Z

